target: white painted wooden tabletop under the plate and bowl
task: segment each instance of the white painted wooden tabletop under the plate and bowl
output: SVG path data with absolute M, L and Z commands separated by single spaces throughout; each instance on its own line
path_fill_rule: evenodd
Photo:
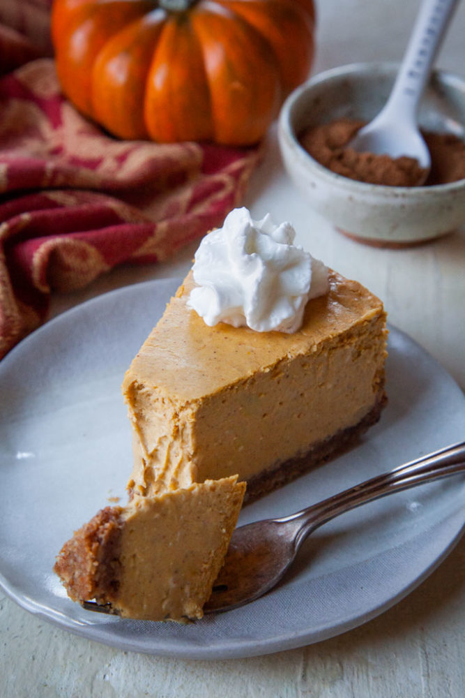
M 418 9 L 413 0 L 324 0 L 314 72 L 355 61 L 398 59 Z M 439 54 L 465 74 L 465 6 Z M 465 388 L 465 230 L 402 251 L 346 239 L 307 207 L 282 170 L 272 129 L 245 204 L 290 220 L 298 242 L 386 304 L 403 329 Z M 56 297 L 52 316 L 121 285 L 183 276 L 197 244 L 160 265 L 117 269 Z M 465 425 L 464 425 L 465 426 Z M 464 429 L 465 436 L 465 429 Z M 184 661 L 125 653 L 55 628 L 0 591 L 2 698 L 463 698 L 465 540 L 406 599 L 366 625 L 312 646 L 259 658 Z

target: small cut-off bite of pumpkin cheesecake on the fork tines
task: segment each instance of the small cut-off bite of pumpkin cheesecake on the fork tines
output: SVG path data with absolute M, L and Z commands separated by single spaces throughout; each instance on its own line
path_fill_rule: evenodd
M 237 477 L 105 507 L 63 545 L 54 571 L 75 601 L 126 618 L 201 618 L 241 509 Z

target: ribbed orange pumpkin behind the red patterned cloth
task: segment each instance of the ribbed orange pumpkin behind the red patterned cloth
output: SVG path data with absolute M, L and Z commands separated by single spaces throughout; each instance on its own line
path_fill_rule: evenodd
M 120 138 L 257 142 L 307 77 L 313 0 L 55 0 L 63 91 Z

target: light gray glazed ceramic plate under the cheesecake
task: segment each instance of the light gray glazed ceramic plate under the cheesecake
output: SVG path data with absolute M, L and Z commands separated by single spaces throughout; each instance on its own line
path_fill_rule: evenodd
M 151 281 L 77 306 L 1 362 L 1 585 L 28 611 L 89 639 L 191 659 L 280 651 L 374 618 L 457 542 L 463 477 L 344 514 L 307 541 L 275 591 L 192 625 L 123 621 L 66 597 L 54 557 L 109 497 L 125 500 L 132 456 L 121 379 L 177 285 Z M 245 507 L 241 523 L 289 514 L 464 438 L 465 399 L 448 373 L 394 328 L 389 351 L 381 422 L 344 456 Z

